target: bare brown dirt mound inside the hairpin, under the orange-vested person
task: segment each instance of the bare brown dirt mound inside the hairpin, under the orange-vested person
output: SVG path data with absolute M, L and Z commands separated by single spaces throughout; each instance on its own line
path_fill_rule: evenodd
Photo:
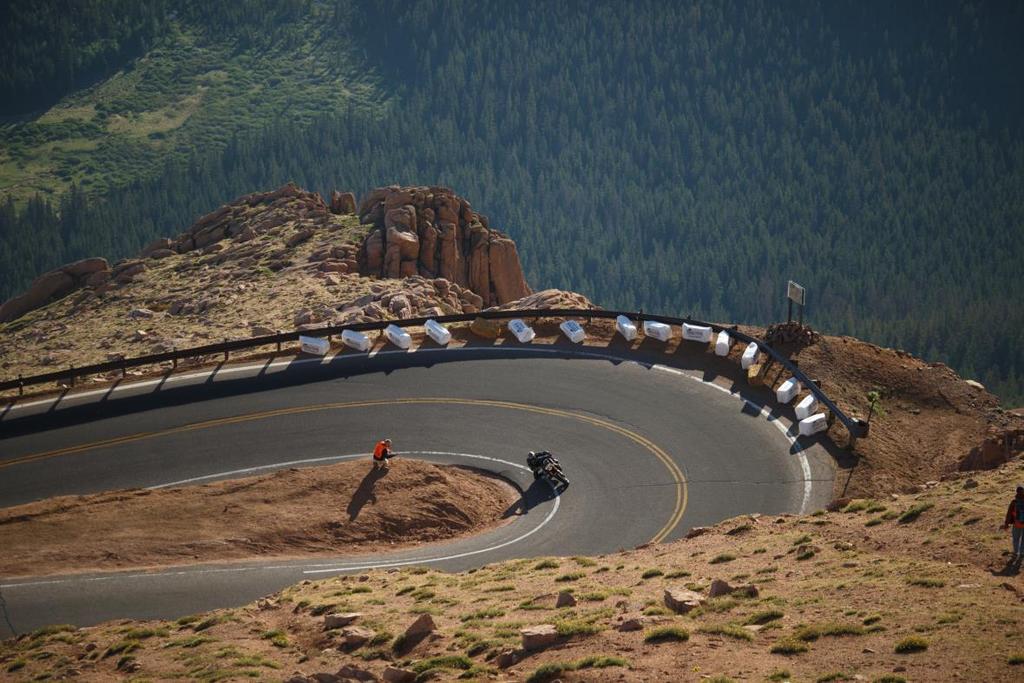
M 368 459 L 0 509 L 0 575 L 375 553 L 479 532 L 518 499 L 476 470 L 391 462 L 386 472 Z

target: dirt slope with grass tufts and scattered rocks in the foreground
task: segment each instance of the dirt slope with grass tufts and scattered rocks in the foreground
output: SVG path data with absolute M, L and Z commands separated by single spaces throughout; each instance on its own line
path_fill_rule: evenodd
M 431 672 L 420 680 L 1020 680 L 1024 583 L 997 524 L 1022 478 L 1015 461 L 913 496 L 744 516 L 613 555 L 374 571 L 177 622 L 55 627 L 0 645 L 0 671 L 303 683 L 387 668 Z M 709 599 L 716 580 L 754 590 Z M 702 604 L 677 613 L 669 589 Z M 329 628 L 334 612 L 359 614 Z M 424 614 L 433 632 L 404 637 Z M 524 650 L 521 629 L 546 624 L 551 642 Z M 674 631 L 658 639 L 656 629 Z

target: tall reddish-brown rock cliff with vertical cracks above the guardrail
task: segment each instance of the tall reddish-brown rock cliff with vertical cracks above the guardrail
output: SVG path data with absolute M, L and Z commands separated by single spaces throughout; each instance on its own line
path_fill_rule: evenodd
M 379 187 L 359 204 L 374 225 L 359 270 L 381 278 L 443 278 L 478 294 L 485 306 L 530 293 L 515 243 L 446 187 Z

